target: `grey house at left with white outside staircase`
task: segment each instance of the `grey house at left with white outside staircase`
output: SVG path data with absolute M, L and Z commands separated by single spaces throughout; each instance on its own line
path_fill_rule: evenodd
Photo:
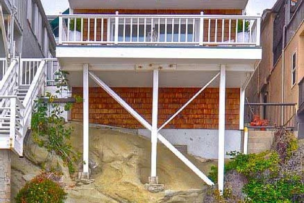
M 40 0 L 1 1 L 0 29 L 0 202 L 10 202 L 8 150 L 22 156 L 33 99 L 43 92 L 44 64 L 55 57 L 56 43 Z

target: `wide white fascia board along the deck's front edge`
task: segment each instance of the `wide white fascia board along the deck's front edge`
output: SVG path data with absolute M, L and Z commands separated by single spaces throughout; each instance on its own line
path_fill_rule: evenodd
M 144 58 L 260 60 L 261 48 L 244 47 L 93 47 L 58 46 L 57 58 Z

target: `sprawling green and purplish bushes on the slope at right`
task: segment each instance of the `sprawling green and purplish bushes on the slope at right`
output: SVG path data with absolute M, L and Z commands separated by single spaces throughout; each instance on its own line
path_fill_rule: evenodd
M 290 168 L 295 167 L 295 161 L 300 161 L 297 157 L 301 157 L 299 154 L 303 152 L 297 152 L 298 147 L 297 140 L 291 132 L 279 129 L 275 132 L 272 151 L 248 155 L 231 152 L 229 155 L 232 159 L 225 163 L 225 173 L 234 171 L 247 178 L 243 187 L 245 198 L 233 195 L 235 188 L 230 188 L 225 183 L 221 198 L 218 197 L 219 192 L 213 191 L 213 197 L 209 196 L 209 200 L 204 202 L 303 202 L 304 173 L 294 173 L 294 169 Z M 303 166 L 300 168 L 297 164 L 297 170 L 303 171 Z M 209 178 L 217 182 L 217 167 L 211 167 Z M 213 200 L 210 200 L 211 198 Z

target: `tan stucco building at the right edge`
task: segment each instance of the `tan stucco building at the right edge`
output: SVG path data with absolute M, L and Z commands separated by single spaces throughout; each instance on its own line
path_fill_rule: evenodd
M 261 22 L 262 60 L 246 91 L 251 109 L 272 126 L 284 126 L 304 138 L 304 1 L 279 0 Z M 248 118 L 252 118 L 248 116 Z M 248 119 L 250 122 L 251 119 Z M 299 125 L 298 125 L 299 124 Z

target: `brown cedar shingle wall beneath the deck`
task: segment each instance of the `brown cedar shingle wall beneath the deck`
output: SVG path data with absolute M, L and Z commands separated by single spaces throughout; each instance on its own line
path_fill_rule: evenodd
M 113 88 L 132 108 L 151 123 L 151 88 Z M 170 118 L 199 88 L 160 88 L 159 125 Z M 73 94 L 82 95 L 82 87 L 73 87 Z M 192 101 L 166 128 L 171 129 L 217 129 L 218 88 L 207 88 Z M 143 128 L 116 100 L 102 88 L 90 88 L 90 123 Z M 226 89 L 226 128 L 239 129 L 240 89 Z M 71 119 L 81 121 L 83 104 L 75 104 Z

